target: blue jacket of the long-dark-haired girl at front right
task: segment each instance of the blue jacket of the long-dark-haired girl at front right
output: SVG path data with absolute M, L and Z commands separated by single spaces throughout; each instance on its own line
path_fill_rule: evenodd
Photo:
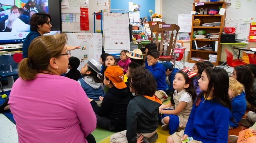
M 202 97 L 193 104 L 184 134 L 203 143 L 227 143 L 230 118 L 227 107 Z

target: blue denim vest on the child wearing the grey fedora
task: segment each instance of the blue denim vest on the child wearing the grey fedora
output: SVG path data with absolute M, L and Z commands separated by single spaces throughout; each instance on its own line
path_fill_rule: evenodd
M 78 79 L 78 81 L 80 81 L 81 86 L 82 86 L 83 90 L 85 91 L 87 97 L 89 97 L 95 101 L 99 101 L 99 96 L 103 97 L 104 93 L 103 93 L 101 86 L 98 89 L 95 89 L 95 88 L 89 86 L 89 84 L 87 84 L 83 79 Z

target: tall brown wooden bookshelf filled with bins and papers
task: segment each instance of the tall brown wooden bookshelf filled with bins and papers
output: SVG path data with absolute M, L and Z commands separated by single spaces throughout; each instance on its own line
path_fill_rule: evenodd
M 204 6 L 195 6 L 195 3 L 193 3 L 193 11 L 199 12 L 200 8 L 208 8 L 209 9 L 219 9 L 219 7 L 226 8 L 226 4 L 221 2 L 207 2 L 204 3 Z M 194 26 L 194 20 L 196 18 L 201 18 L 201 24 L 209 23 L 209 22 L 220 22 L 220 26 L 216 27 L 203 27 L 203 26 Z M 192 27 L 191 27 L 191 41 L 190 41 L 190 53 L 189 53 L 189 60 L 190 63 L 196 63 L 196 60 L 191 60 L 191 57 L 201 57 L 204 60 L 209 60 L 209 55 L 217 55 L 217 62 L 212 62 L 215 66 L 219 65 L 220 57 L 221 57 L 221 44 L 220 44 L 220 38 L 219 39 L 196 39 L 193 38 L 194 31 L 198 30 L 205 30 L 206 34 L 210 33 L 217 33 L 219 32 L 219 37 L 222 33 L 223 26 L 224 26 L 224 15 L 193 15 L 192 16 Z M 205 35 L 206 35 L 205 34 Z M 212 45 L 213 42 L 218 42 L 217 44 L 217 52 L 214 50 L 196 50 L 193 49 L 193 41 L 196 41 L 198 47 L 202 47 L 204 45 Z M 214 48 L 213 48 L 214 49 Z

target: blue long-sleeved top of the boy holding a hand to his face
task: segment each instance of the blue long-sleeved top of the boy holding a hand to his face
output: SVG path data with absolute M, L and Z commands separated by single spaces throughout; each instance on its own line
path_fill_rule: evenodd
M 147 66 L 146 69 L 155 77 L 157 81 L 157 90 L 166 91 L 166 81 L 165 81 L 165 67 L 161 63 L 156 63 L 153 66 Z

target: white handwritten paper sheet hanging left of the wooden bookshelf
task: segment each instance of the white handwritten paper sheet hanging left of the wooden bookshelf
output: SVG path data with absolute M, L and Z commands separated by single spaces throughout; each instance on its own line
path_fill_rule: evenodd
M 191 32 L 192 27 L 192 14 L 179 14 L 178 15 L 179 32 Z

